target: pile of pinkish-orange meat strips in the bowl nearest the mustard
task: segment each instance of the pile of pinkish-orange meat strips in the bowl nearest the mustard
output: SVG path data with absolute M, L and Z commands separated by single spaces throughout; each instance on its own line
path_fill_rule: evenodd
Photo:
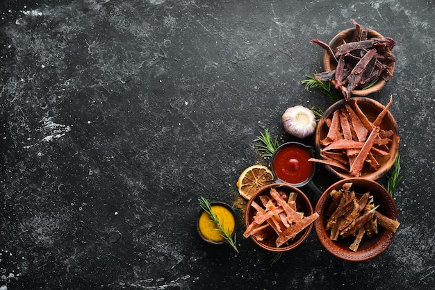
M 256 213 L 243 236 L 247 238 L 252 235 L 257 241 L 275 244 L 277 248 L 294 239 L 319 216 L 317 212 L 310 216 L 298 212 L 296 198 L 295 192 L 287 196 L 284 191 L 272 187 L 269 195 L 259 196 L 261 205 L 252 201 L 251 206 Z

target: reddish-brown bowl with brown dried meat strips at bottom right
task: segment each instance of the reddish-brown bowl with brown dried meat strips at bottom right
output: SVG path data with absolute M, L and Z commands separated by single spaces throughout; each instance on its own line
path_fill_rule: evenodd
M 365 178 L 339 180 L 320 196 L 315 233 L 332 255 L 347 261 L 372 259 L 390 246 L 400 223 L 388 191 Z

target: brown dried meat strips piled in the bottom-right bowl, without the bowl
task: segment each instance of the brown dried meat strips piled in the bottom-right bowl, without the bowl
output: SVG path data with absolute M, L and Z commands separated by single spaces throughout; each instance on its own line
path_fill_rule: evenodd
M 352 183 L 345 183 L 342 189 L 329 194 L 331 204 L 326 212 L 329 219 L 325 230 L 331 230 L 329 238 L 333 241 L 338 237 L 356 237 L 349 247 L 356 252 L 364 234 L 368 237 L 377 234 L 377 225 L 395 232 L 400 223 L 377 212 L 369 192 L 356 194 L 350 187 Z

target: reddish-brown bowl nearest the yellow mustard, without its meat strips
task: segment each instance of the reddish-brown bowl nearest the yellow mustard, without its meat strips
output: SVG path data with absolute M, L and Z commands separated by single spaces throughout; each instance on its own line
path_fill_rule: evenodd
M 245 226 L 246 228 L 252 221 L 254 220 L 254 215 L 256 213 L 256 210 L 254 207 L 252 207 L 252 201 L 255 201 L 258 203 L 258 205 L 261 205 L 260 196 L 263 195 L 269 195 L 269 191 L 271 187 L 279 187 L 281 191 L 286 192 L 286 194 L 290 194 L 290 192 L 297 193 L 296 198 L 296 205 L 297 205 L 297 211 L 298 212 L 304 212 L 304 216 L 309 216 L 313 214 L 313 207 L 311 206 L 311 203 L 309 201 L 309 198 L 306 197 L 306 195 L 296 187 L 293 187 L 292 185 L 287 185 L 284 183 L 272 183 L 270 185 L 266 185 L 265 187 L 258 189 L 256 193 L 252 196 L 251 199 L 249 199 L 245 211 Z M 288 241 L 288 244 L 284 244 L 280 246 L 279 248 L 276 246 L 275 241 L 277 239 L 276 234 L 272 234 L 268 239 L 265 239 L 263 241 L 257 241 L 254 237 L 250 236 L 252 241 L 254 241 L 254 244 L 262 248 L 263 250 L 267 250 L 272 253 L 284 253 L 289 250 L 293 250 L 300 246 L 306 238 L 309 237 L 309 234 L 313 228 L 313 223 L 306 227 L 302 232 L 299 232 L 296 237 L 290 241 Z

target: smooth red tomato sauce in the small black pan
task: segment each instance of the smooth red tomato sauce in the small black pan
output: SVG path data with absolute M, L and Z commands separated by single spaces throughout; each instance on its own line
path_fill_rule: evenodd
M 308 180 L 313 171 L 313 163 L 308 161 L 311 153 L 302 146 L 284 146 L 274 157 L 273 170 L 279 180 L 298 184 Z

